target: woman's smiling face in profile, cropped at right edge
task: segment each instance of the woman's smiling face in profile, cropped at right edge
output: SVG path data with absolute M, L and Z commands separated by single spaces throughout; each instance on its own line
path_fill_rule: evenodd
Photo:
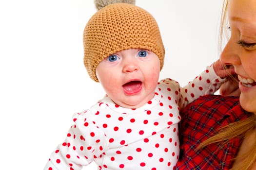
M 231 35 L 220 58 L 235 67 L 241 106 L 256 113 L 256 0 L 229 0 L 227 15 Z

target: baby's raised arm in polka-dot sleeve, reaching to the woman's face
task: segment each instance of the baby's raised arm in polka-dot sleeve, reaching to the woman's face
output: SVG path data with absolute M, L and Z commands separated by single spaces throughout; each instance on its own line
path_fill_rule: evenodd
M 232 73 L 234 69 L 224 69 L 221 62 L 217 60 L 211 66 L 208 66 L 192 82 L 180 89 L 179 107 L 184 108 L 189 102 L 194 101 L 199 96 L 214 94 L 225 82 L 225 77 Z

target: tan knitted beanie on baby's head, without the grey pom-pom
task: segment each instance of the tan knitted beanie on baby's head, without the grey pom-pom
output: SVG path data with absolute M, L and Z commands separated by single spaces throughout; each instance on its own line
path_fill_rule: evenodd
M 154 17 L 128 3 L 109 4 L 94 14 L 83 33 L 84 66 L 96 82 L 96 68 L 109 55 L 130 48 L 153 51 L 164 62 L 164 46 Z

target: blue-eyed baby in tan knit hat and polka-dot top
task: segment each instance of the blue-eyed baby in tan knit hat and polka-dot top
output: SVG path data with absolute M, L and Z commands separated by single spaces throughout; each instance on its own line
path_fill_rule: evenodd
M 44 170 L 81 170 L 93 161 L 99 170 L 172 170 L 179 156 L 179 110 L 213 94 L 229 70 L 219 70 L 218 61 L 183 88 L 168 78 L 158 82 L 165 53 L 158 24 L 133 4 L 98 10 L 83 43 L 84 65 L 106 96 L 74 115 Z

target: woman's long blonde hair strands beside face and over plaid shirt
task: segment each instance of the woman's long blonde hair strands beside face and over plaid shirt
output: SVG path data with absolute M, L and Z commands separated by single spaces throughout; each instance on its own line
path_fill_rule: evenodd
M 227 5 L 228 0 L 224 0 L 222 13 L 221 13 L 221 24 L 220 24 L 220 32 L 219 32 L 219 50 L 222 51 L 223 47 L 223 38 L 229 38 L 227 34 Z M 235 78 L 232 80 L 235 81 Z M 209 139 L 203 141 L 197 149 L 203 148 L 209 144 L 222 142 L 224 146 L 228 141 L 232 138 L 244 138 L 246 132 L 256 131 L 256 114 L 253 114 L 247 119 L 240 120 L 234 123 L 230 123 L 227 126 L 220 128 L 219 132 L 210 137 Z M 250 170 L 253 164 L 256 162 L 256 139 L 253 141 L 253 145 L 249 148 L 248 152 L 237 156 L 235 159 L 242 160 L 239 162 L 238 166 L 232 168 L 232 170 Z

